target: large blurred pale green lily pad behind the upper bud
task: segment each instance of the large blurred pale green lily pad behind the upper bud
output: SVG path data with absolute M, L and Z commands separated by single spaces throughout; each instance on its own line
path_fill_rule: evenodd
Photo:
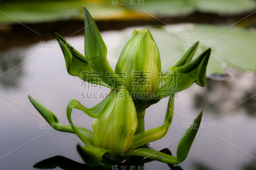
M 207 74 L 224 73 L 227 67 L 256 71 L 254 48 L 256 30 L 240 27 L 177 24 L 169 26 L 136 26 L 149 28 L 161 57 L 162 70 L 168 71 L 181 58 L 193 42 L 200 41 L 194 58 L 207 48 L 212 48 Z M 228 28 L 228 29 L 227 29 Z M 133 28 L 117 32 L 114 40 L 106 43 L 108 60 L 116 62 L 124 44 L 129 40 Z M 103 40 L 104 34 L 103 34 Z M 108 41 L 108 40 L 106 40 Z M 114 43 L 116 42 L 116 43 Z M 113 52 L 114 51 L 114 52 Z

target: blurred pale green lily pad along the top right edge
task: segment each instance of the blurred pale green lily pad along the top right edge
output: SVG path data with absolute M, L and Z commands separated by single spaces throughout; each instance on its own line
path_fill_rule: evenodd
M 194 11 L 216 14 L 235 14 L 255 10 L 252 0 L 145 0 L 143 6 L 132 6 L 154 14 L 182 15 Z

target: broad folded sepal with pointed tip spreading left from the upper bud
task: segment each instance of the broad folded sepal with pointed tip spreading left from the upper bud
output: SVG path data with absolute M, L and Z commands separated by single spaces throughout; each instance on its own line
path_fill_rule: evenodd
M 76 51 L 76 49 L 58 33 L 55 33 L 55 35 L 64 55 L 68 74 L 78 76 L 86 82 L 103 85 L 109 88 L 117 87 L 123 82 L 111 69 L 106 56 L 88 60 L 87 57 L 84 57 Z

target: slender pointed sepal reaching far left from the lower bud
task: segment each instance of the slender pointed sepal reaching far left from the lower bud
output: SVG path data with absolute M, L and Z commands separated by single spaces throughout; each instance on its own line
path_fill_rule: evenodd
M 75 133 L 70 125 L 60 124 L 58 118 L 41 103 L 39 103 L 29 95 L 28 98 L 33 106 L 36 108 L 36 110 L 44 117 L 44 119 L 49 123 L 49 125 L 52 126 L 53 129 L 61 132 Z M 81 127 L 76 127 L 76 129 L 81 133 L 84 138 L 87 139 L 89 144 L 93 144 L 94 133 L 91 130 Z

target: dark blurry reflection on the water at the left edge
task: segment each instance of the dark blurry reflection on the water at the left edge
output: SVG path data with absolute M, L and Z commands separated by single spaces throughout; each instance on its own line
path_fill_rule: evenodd
M 23 76 L 23 66 L 18 65 L 22 62 L 23 54 L 19 49 L 0 52 L 0 83 L 2 87 L 13 89 L 19 86 L 19 80 Z M 13 69 L 14 67 L 16 68 Z

